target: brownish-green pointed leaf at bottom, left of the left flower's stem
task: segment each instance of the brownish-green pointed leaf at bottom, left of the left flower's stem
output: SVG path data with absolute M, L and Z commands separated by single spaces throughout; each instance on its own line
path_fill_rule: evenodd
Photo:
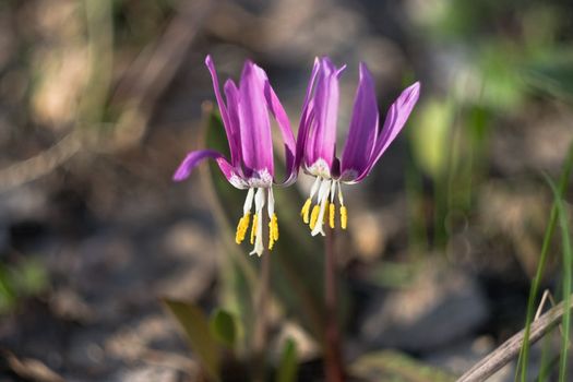
M 208 322 L 201 308 L 186 301 L 163 299 L 163 303 L 181 325 L 191 346 L 208 375 L 218 381 L 220 354 L 211 335 Z

